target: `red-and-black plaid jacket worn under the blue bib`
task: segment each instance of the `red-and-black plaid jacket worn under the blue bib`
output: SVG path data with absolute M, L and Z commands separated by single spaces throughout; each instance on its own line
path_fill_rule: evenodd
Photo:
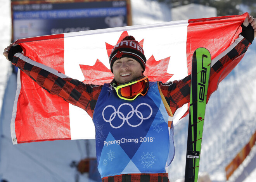
M 235 44 L 235 46 L 233 44 Z M 216 79 L 219 82 L 223 70 L 225 70 L 228 66 L 232 65 L 232 61 L 235 60 L 237 57 L 242 56 L 247 51 L 250 45 L 249 41 L 247 41 L 245 38 L 238 42 L 236 40 L 236 42 L 233 44 L 230 46 L 231 49 L 228 48 L 226 51 L 221 53 L 220 56 L 218 56 L 219 60 L 217 60 L 211 66 L 210 83 L 212 80 Z M 14 56 L 14 61 L 16 61 L 15 65 L 18 68 L 20 68 L 24 73 L 29 75 L 29 77 L 31 77 L 36 83 L 38 83 L 41 87 L 47 90 L 50 94 L 62 97 L 67 102 L 84 109 L 91 117 L 93 116 L 93 111 L 95 109 L 95 105 L 103 85 L 85 84 L 83 82 L 80 82 L 79 80 L 75 80 L 72 78 L 60 78 L 57 75 L 54 75 L 54 73 L 43 70 L 38 66 L 31 65 L 30 63 L 16 56 Z M 189 103 L 190 75 L 178 81 L 168 83 L 159 82 L 159 85 L 173 114 L 179 107 L 182 107 L 182 105 Z M 132 176 L 140 178 L 137 175 L 138 174 L 134 174 Z M 159 176 L 157 176 L 157 179 Z M 150 176 L 150 174 L 147 174 L 147 176 L 143 175 L 142 178 L 151 179 L 154 177 L 155 176 Z M 122 182 L 122 178 L 124 177 L 107 177 L 103 180 L 104 182 Z M 163 180 L 163 177 L 161 177 L 161 179 L 162 180 L 160 181 L 165 181 Z

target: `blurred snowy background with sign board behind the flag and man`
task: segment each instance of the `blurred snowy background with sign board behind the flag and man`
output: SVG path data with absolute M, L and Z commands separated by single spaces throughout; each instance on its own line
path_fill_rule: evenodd
M 256 17 L 255 0 L 0 0 L 0 50 L 16 39 L 111 27 L 238 15 Z M 71 19 L 72 18 L 72 19 Z M 200 182 L 256 181 L 256 44 L 206 107 Z M 95 140 L 12 145 L 17 68 L 0 56 L 0 181 L 100 182 Z M 174 128 L 170 182 L 185 173 L 188 117 Z

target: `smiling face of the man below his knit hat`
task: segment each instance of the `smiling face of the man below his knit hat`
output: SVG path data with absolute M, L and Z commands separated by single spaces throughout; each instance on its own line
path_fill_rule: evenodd
M 113 64 L 114 79 L 117 83 L 125 83 L 142 76 L 143 68 L 133 58 L 121 58 Z

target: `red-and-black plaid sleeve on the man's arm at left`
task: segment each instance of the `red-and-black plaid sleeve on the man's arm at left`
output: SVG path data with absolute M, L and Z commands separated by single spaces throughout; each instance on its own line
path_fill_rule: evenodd
M 102 85 L 85 84 L 48 66 L 36 63 L 21 53 L 15 54 L 16 66 L 50 94 L 84 109 L 91 117 Z

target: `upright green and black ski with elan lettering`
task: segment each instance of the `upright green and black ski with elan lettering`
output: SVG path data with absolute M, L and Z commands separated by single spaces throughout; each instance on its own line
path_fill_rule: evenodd
M 191 71 L 185 182 L 197 182 L 198 180 L 210 70 L 211 54 L 206 48 L 196 49 L 193 54 Z

